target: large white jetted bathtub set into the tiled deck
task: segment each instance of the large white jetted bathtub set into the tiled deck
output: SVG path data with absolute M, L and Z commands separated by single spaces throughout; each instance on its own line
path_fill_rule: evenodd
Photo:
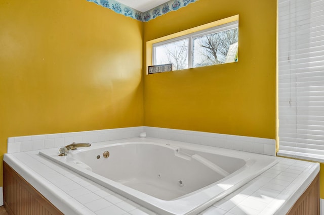
M 272 156 L 153 138 L 39 154 L 158 214 L 197 214 L 276 163 Z

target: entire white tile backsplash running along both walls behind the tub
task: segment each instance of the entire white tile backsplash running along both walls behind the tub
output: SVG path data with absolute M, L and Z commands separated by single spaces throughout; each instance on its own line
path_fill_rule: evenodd
M 7 153 L 62 147 L 72 142 L 95 143 L 116 139 L 138 137 L 141 132 L 145 132 L 146 136 L 148 137 L 275 156 L 274 139 L 168 128 L 156 128 L 147 126 L 47 135 L 31 135 L 22 137 L 9 137 Z

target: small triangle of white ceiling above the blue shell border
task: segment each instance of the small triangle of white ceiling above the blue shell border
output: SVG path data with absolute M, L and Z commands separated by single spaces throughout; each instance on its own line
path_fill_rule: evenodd
M 170 0 L 117 0 L 117 2 L 127 5 L 140 12 L 149 11 L 169 1 Z

